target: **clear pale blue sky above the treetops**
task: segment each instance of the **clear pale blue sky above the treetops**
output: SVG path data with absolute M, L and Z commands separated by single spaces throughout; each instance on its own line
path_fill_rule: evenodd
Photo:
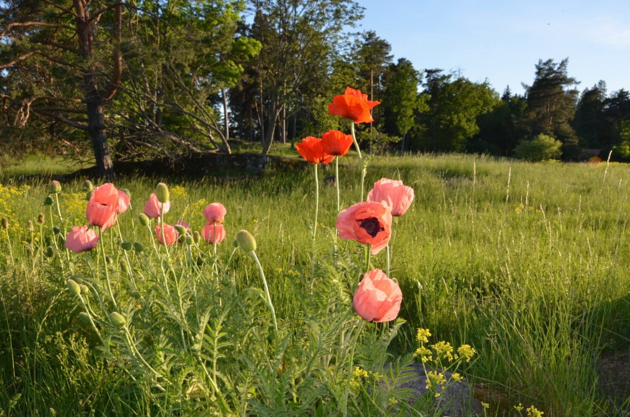
M 394 61 L 461 71 L 499 93 L 523 93 L 539 59 L 568 57 L 582 91 L 603 79 L 608 92 L 630 89 L 630 0 L 358 0 L 360 31 L 392 45 Z

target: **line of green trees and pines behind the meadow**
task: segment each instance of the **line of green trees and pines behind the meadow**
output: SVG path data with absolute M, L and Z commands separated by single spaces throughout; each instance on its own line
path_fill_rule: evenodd
M 581 93 L 568 59 L 540 60 L 524 94 L 443 69 L 394 62 L 354 32 L 353 0 L 13 0 L 0 3 L 4 154 L 51 149 L 112 159 L 231 152 L 347 130 L 326 104 L 346 86 L 381 101 L 358 129 L 372 152 L 520 156 L 553 144 L 630 160 L 630 95 Z M 551 142 L 549 142 L 551 141 Z

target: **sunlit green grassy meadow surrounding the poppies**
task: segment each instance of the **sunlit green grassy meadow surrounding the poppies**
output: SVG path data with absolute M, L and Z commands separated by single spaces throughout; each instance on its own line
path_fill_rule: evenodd
M 311 169 L 119 178 L 131 208 L 87 256 L 63 238 L 86 224 L 88 178 L 62 182 L 45 206 L 49 179 L 0 173 L 0 415 L 425 415 L 438 397 L 408 404 L 389 383 L 419 362 L 418 328 L 430 343 L 474 348 L 452 364 L 486 415 L 532 405 L 546 417 L 628 415 L 629 394 L 603 383 L 600 362 L 629 349 L 629 166 L 375 157 L 366 193 L 382 177 L 415 190 L 392 226 L 389 277 L 403 302 L 391 323 L 353 312 L 365 252 L 335 237 L 336 191 L 322 181 L 332 173 L 320 170 L 314 239 Z M 154 223 L 138 215 L 159 182 L 165 222 L 200 231 L 203 208 L 221 202 L 227 238 L 154 246 Z M 359 183 L 357 159 L 342 158 L 341 208 L 360 200 Z M 241 229 L 256 239 L 269 295 L 256 260 L 232 245 Z M 384 269 L 384 251 L 369 262 Z M 69 290 L 71 277 L 88 294 Z

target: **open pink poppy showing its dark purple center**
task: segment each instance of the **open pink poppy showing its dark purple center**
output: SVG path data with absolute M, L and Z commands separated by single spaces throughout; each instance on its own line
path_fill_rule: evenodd
M 377 202 L 361 202 L 343 210 L 337 217 L 335 227 L 341 239 L 353 239 L 372 246 L 377 254 L 389 243 L 391 236 L 391 208 Z

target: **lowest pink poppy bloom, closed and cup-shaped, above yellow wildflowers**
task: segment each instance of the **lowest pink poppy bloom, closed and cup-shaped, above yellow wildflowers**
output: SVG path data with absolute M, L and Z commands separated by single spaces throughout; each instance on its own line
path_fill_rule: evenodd
M 357 292 L 352 297 L 352 306 L 365 321 L 392 321 L 398 316 L 403 292 L 394 280 L 379 269 L 363 276 Z

